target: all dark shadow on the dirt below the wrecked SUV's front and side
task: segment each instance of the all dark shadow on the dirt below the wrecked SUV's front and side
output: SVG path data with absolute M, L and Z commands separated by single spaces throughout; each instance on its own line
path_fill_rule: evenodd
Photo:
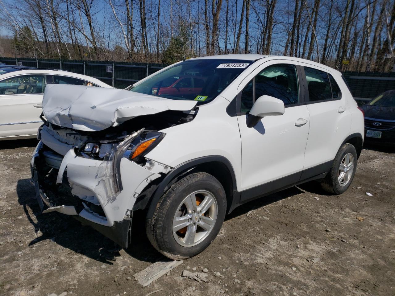
M 324 193 L 317 182 L 310 182 L 302 186 L 303 190 L 311 193 Z M 278 193 L 247 202 L 233 210 L 231 214 L 225 217 L 225 220 L 245 215 L 252 209 L 261 208 L 273 202 L 303 193 L 304 191 L 299 188 L 291 187 Z M 36 233 L 41 232 L 41 236 L 32 240 L 29 245 L 37 244 L 43 240 L 51 240 L 71 251 L 111 265 L 120 256 L 120 247 L 92 227 L 82 226 L 81 223 L 72 217 L 57 212 L 41 214 L 36 200 L 34 186 L 30 183 L 29 179 L 18 180 L 17 195 L 18 202 L 23 206 L 26 217 L 34 226 Z M 33 211 L 37 222 L 30 214 L 31 212 L 28 211 L 28 208 Z M 145 233 L 144 221 L 145 212 L 136 211 L 132 223 L 131 244 L 128 249 L 125 249 L 125 252 L 137 260 L 152 263 L 163 256 L 150 244 Z M 138 227 L 134 227 L 133 224 L 137 224 Z

